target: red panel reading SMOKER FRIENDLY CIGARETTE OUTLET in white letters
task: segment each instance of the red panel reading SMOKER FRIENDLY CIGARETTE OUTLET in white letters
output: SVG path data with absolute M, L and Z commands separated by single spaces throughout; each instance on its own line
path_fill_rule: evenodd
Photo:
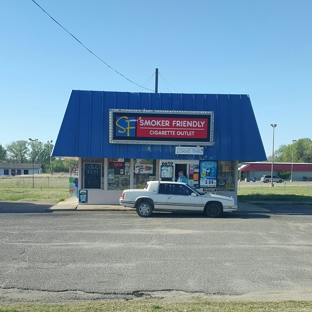
M 137 138 L 207 139 L 207 118 L 143 117 L 137 119 Z

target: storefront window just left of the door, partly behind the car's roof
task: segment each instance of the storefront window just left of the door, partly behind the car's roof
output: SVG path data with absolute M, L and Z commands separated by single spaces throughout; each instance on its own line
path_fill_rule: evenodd
M 134 160 L 134 188 L 143 189 L 147 181 L 156 180 L 156 161 L 153 159 Z

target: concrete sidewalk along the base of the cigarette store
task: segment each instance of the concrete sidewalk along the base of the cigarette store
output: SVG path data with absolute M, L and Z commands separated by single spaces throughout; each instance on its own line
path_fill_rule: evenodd
M 244 211 L 244 212 L 268 212 L 269 210 L 249 204 L 249 203 L 238 203 L 238 210 L 237 211 Z M 79 211 L 92 211 L 92 210 L 103 210 L 103 211 L 133 211 L 133 208 L 126 208 L 120 205 L 87 205 L 87 204 L 79 204 L 78 198 L 76 197 L 69 197 L 64 201 L 57 203 L 56 205 L 52 206 L 50 210 L 58 211 L 58 210 L 79 210 Z

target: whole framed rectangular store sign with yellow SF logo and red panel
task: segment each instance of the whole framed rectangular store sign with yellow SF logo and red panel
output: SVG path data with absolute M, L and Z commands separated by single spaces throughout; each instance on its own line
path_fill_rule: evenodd
M 110 143 L 214 144 L 213 112 L 110 109 L 109 120 Z

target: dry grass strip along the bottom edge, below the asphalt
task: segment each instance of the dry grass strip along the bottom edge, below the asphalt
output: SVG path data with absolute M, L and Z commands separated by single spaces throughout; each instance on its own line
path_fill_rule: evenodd
M 97 301 L 75 302 L 65 304 L 40 304 L 21 303 L 13 305 L 0 305 L 0 312 L 117 312 L 117 311 L 141 311 L 141 312 L 231 312 L 231 311 L 283 311 L 300 312 L 312 311 L 312 301 L 268 301 L 268 302 L 239 302 L 239 301 L 208 301 L 190 300 L 167 302 L 159 300 L 134 300 L 134 301 Z

